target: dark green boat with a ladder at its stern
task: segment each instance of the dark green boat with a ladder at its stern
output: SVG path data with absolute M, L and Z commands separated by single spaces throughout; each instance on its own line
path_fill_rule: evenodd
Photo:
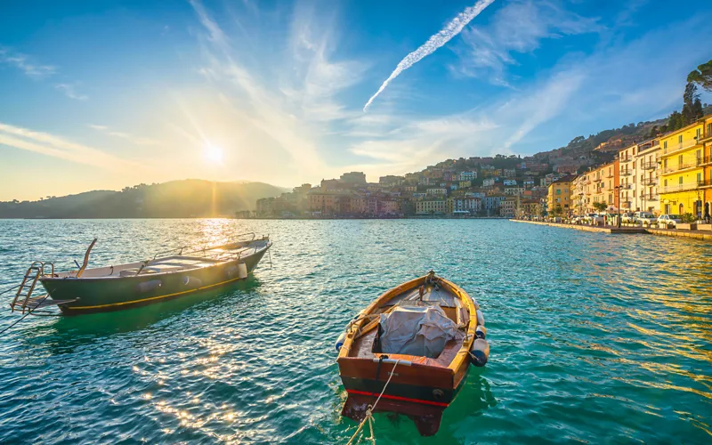
M 150 260 L 89 268 L 94 239 L 78 270 L 55 272 L 53 263 L 33 263 L 18 287 L 12 311 L 39 315 L 51 306 L 67 315 L 120 311 L 247 279 L 271 241 L 258 239 L 255 233 L 234 239 L 221 246 L 182 247 Z M 36 283 L 46 294 L 34 295 Z

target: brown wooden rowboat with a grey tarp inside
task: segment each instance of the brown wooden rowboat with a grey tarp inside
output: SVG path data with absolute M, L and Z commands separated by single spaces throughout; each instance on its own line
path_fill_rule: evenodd
M 437 433 L 470 364 L 488 360 L 486 334 L 477 302 L 433 271 L 393 287 L 336 342 L 348 392 L 342 415 L 361 421 L 371 411 L 394 412 L 422 435 Z

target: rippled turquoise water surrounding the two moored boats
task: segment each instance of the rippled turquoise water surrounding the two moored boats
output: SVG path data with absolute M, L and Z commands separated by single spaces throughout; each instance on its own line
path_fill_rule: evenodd
M 345 443 L 333 344 L 376 295 L 433 268 L 481 303 L 490 363 L 420 438 L 712 441 L 712 245 L 505 221 L 0 221 L 0 290 L 61 269 L 269 233 L 255 277 L 168 303 L 28 318 L 0 339 L 0 443 Z M 3 301 L 8 300 L 3 295 Z M 0 328 L 17 316 L 3 303 Z

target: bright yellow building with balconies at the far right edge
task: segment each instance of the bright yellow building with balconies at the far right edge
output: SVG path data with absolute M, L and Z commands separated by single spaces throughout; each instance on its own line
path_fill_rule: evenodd
M 709 134 L 712 116 L 660 137 L 660 204 L 663 214 L 703 215 L 710 186 Z M 710 128 L 712 129 L 712 127 Z M 706 146 L 707 145 L 707 146 Z

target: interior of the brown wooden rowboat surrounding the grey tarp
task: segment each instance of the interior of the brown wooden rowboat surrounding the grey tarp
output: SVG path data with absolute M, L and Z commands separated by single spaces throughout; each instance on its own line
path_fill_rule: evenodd
M 457 356 L 463 339 L 465 330 L 468 328 L 467 322 L 470 319 L 470 312 L 457 295 L 449 292 L 445 287 L 441 287 L 437 282 L 424 283 L 421 286 L 406 290 L 400 294 L 393 295 L 390 299 L 380 304 L 373 316 L 366 314 L 367 319 L 362 322 L 361 328 L 355 334 L 354 342 L 348 356 L 354 358 L 373 359 L 381 355 L 378 351 L 379 317 L 376 315 L 392 312 L 396 307 L 408 306 L 437 306 L 440 307 L 449 320 L 457 325 L 457 335 L 449 339 L 435 358 L 412 357 L 406 360 L 417 361 L 428 366 L 447 368 L 452 360 Z M 413 332 L 415 335 L 415 332 Z M 391 358 L 396 358 L 400 354 L 388 354 Z M 404 357 L 405 358 L 405 357 Z

